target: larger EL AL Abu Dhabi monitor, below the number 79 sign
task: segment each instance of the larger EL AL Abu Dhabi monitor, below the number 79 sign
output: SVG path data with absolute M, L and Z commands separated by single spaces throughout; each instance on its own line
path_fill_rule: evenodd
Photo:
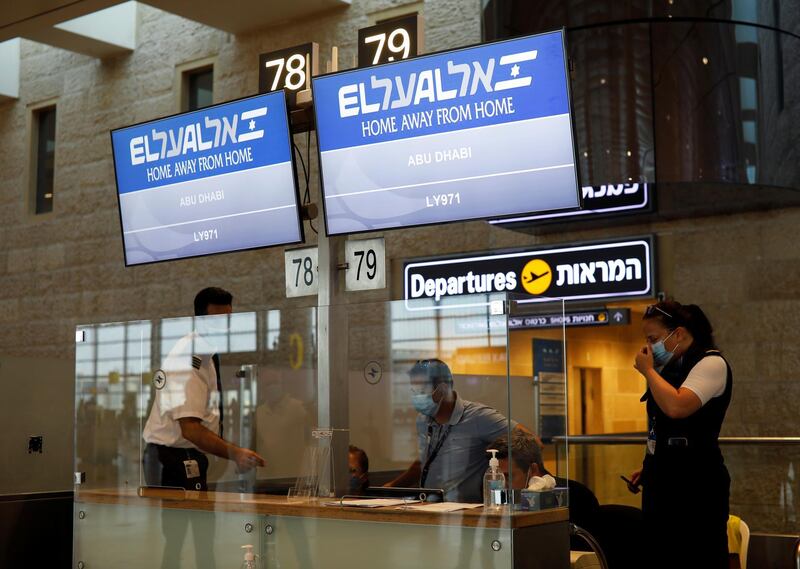
M 313 79 L 328 234 L 580 207 L 562 31 Z

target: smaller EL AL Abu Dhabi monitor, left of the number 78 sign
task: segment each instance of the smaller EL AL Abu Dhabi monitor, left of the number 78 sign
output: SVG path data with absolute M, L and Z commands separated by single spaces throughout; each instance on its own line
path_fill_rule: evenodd
M 303 241 L 286 95 L 111 132 L 125 264 Z

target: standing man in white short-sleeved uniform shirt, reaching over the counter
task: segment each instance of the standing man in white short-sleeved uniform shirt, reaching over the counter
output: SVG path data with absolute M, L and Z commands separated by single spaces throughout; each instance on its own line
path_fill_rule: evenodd
M 195 297 L 194 308 L 195 316 L 207 317 L 198 328 L 209 328 L 214 315 L 226 318 L 233 311 L 233 296 L 221 288 L 206 288 Z M 207 490 L 204 453 L 234 461 L 241 472 L 264 466 L 258 454 L 222 438 L 219 356 L 201 333 L 178 340 L 157 374 L 156 398 L 143 433 L 149 486 Z

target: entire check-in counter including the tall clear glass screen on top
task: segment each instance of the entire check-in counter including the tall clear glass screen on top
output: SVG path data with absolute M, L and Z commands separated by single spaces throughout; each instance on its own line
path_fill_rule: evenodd
M 568 567 L 568 496 L 520 500 L 530 477 L 512 466 L 522 458 L 513 445 L 500 464 L 504 487 L 517 490 L 495 492 L 505 505 L 483 506 L 485 450 L 520 428 L 566 435 L 566 408 L 556 416 L 564 405 L 556 398 L 552 416 L 535 416 L 533 380 L 515 375 L 508 320 L 531 308 L 467 299 L 80 326 L 73 566 L 239 567 L 243 546 L 253 546 L 262 568 Z M 328 358 L 319 357 L 323 343 Z M 563 342 L 548 347 L 563 359 Z M 222 393 L 209 405 L 223 437 L 266 464 L 240 472 L 209 455 L 207 490 L 154 484 L 142 468 L 153 406 L 184 397 L 190 380 L 182 378 L 212 353 Z M 458 402 L 441 425 L 421 411 L 431 412 L 420 404 L 426 390 L 409 374 L 434 358 Z M 431 433 L 438 446 L 444 431 L 453 448 L 432 453 Z M 547 446 L 539 467 L 567 478 L 566 457 L 548 460 Z M 369 464 L 356 461 L 354 474 L 355 447 Z M 373 501 L 368 488 L 431 454 L 424 487 L 439 501 L 399 491 Z M 408 480 L 403 486 L 419 486 Z

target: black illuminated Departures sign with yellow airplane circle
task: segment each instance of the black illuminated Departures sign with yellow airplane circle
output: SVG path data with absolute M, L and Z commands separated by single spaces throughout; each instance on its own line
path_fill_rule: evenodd
M 438 303 L 448 297 L 493 293 L 530 297 L 522 303 L 653 296 L 653 239 L 482 253 L 405 266 L 410 310 L 431 308 L 409 302 L 417 299 Z

